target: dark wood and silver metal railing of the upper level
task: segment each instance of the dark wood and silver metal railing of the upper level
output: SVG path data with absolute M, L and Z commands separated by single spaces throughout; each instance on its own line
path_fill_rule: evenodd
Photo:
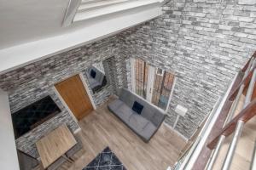
M 252 58 L 248 60 L 247 65 L 241 70 L 245 71 L 244 77 L 239 85 L 235 88 L 233 93 L 230 95 L 229 100 L 233 101 L 233 104 L 230 108 L 229 115 L 227 116 L 224 127 L 220 129 L 218 134 L 210 143 L 207 144 L 207 147 L 212 151 L 212 155 L 207 163 L 207 170 L 211 170 L 214 162 L 218 157 L 218 152 L 224 143 L 224 139 L 229 136 L 231 133 L 234 133 L 233 139 L 230 143 L 229 150 L 225 156 L 224 164 L 222 169 L 230 169 L 233 156 L 235 154 L 236 145 L 240 139 L 241 132 L 244 126 L 244 123 L 249 121 L 253 116 L 256 115 L 256 99 L 255 98 L 255 81 L 256 81 L 256 70 L 255 70 L 255 61 L 256 53 L 253 54 Z M 241 94 L 246 95 L 245 102 L 243 104 L 243 110 L 233 118 L 236 111 L 238 101 L 241 97 Z M 253 98 L 253 101 L 251 101 Z M 215 149 L 215 150 L 214 150 Z M 252 161 L 253 162 L 253 161 Z

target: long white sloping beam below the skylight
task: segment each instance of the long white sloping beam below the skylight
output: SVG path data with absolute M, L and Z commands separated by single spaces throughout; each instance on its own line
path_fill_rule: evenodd
M 59 36 L 44 38 L 11 48 L 1 49 L 0 74 L 11 71 L 22 65 L 35 62 L 39 59 L 44 59 L 54 54 L 60 54 L 71 48 L 77 48 L 84 44 L 112 36 L 131 26 L 136 26 L 147 20 L 152 20 L 155 17 L 160 16 L 160 14 L 162 14 L 162 12 L 159 5 L 135 8 L 123 13 L 109 14 L 105 17 L 90 20 L 86 22 L 86 25 L 81 25 L 80 29 L 75 31 L 70 30 Z

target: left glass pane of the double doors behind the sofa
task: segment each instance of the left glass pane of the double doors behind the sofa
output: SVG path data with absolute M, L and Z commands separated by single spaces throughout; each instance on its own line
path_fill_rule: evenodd
M 148 85 L 148 64 L 141 60 L 135 59 L 135 88 L 136 94 L 146 99 Z

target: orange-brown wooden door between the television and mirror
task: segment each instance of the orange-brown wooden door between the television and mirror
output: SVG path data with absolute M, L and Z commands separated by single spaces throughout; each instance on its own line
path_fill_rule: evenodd
M 78 120 L 93 111 L 90 98 L 79 75 L 55 84 L 55 88 Z

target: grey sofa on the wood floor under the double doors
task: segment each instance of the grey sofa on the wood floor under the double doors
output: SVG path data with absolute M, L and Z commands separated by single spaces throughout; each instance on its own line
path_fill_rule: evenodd
M 132 110 L 135 101 L 143 105 L 141 114 Z M 145 142 L 152 138 L 166 116 L 164 111 L 125 88 L 119 90 L 119 99 L 111 102 L 108 109 Z

